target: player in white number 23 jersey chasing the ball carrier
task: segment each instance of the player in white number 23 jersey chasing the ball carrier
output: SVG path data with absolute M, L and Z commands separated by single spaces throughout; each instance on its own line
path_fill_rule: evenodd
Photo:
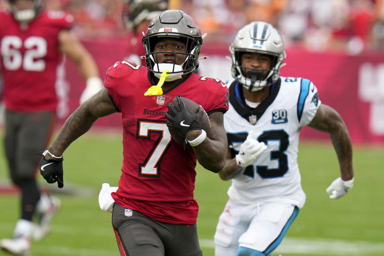
M 305 202 L 297 164 L 301 127 L 330 134 L 340 166 L 340 177 L 326 189 L 332 199 L 353 185 L 352 146 L 342 118 L 321 103 L 310 80 L 279 75 L 286 55 L 272 25 L 245 25 L 229 50 L 234 79 L 227 83 L 228 152 L 219 176 L 232 184 L 214 235 L 215 255 L 270 255 Z

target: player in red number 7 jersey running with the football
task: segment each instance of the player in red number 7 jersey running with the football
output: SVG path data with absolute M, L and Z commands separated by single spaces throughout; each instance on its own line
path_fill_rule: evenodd
M 123 166 L 117 191 L 112 192 L 112 225 L 121 255 L 201 255 L 193 198 L 196 159 L 212 172 L 223 167 L 228 90 L 220 80 L 193 72 L 202 36 L 185 12 L 163 11 L 149 23 L 142 41 L 146 67 L 127 61 L 112 65 L 105 89 L 71 114 L 42 153 L 40 173 L 62 187 L 66 147 L 98 117 L 121 112 Z M 177 111 L 170 103 L 177 95 L 198 103 L 198 112 L 185 111 L 180 97 Z M 204 110 L 210 120 L 207 130 L 201 128 Z M 184 136 L 191 148 L 175 143 L 168 127 Z

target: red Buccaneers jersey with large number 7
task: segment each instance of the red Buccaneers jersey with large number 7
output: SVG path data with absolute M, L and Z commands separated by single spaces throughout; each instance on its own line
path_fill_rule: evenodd
M 165 124 L 167 103 L 176 95 L 187 97 L 210 111 L 228 109 L 228 90 L 218 79 L 191 73 L 180 85 L 162 95 L 144 96 L 151 86 L 146 67 L 116 62 L 104 86 L 121 111 L 123 166 L 118 189 L 112 193 L 121 206 L 155 220 L 174 224 L 196 222 L 193 198 L 196 156 L 171 139 Z

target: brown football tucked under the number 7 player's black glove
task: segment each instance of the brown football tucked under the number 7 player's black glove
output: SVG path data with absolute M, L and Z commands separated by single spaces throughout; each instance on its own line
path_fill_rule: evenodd
M 199 104 L 197 104 L 193 100 L 186 98 L 186 97 L 181 97 L 181 99 L 182 99 L 182 102 L 184 102 L 186 111 L 188 111 L 188 113 L 195 114 L 198 111 L 198 107 L 200 106 Z M 174 107 L 177 109 L 177 111 L 179 111 L 180 108 L 178 106 L 176 97 L 174 97 L 171 102 L 174 105 Z M 202 115 L 201 127 L 203 130 L 205 130 L 206 134 L 208 135 L 209 129 L 210 129 L 210 122 L 209 122 L 209 117 L 205 111 L 204 111 L 204 114 Z M 169 127 L 168 127 L 168 130 L 169 130 L 169 133 L 170 133 L 172 139 L 177 144 L 179 144 L 181 147 L 183 147 L 184 138 L 177 132 L 177 130 L 169 128 Z M 186 143 L 184 149 L 192 150 L 192 147 L 189 145 L 189 143 Z

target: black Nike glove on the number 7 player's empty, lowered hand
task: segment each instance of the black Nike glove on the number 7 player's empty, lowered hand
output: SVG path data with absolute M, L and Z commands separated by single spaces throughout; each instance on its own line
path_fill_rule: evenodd
M 45 159 L 46 154 L 53 156 L 53 159 Z M 62 178 L 62 160 L 63 157 L 56 157 L 48 152 L 48 150 L 40 151 L 38 154 L 41 154 L 43 158 L 38 164 L 40 174 L 44 177 L 46 182 L 54 183 L 57 181 L 57 186 L 59 188 L 64 186 L 64 180 Z

